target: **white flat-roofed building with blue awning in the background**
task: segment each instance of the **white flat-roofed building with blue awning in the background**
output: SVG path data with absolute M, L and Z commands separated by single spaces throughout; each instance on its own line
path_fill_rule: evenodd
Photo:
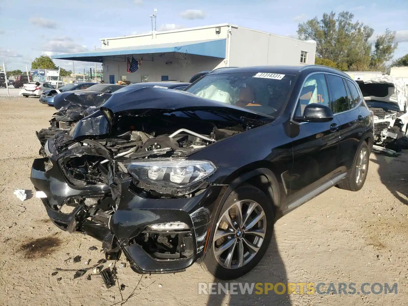
M 239 27 L 217 24 L 172 31 L 101 38 L 101 48 L 53 55 L 62 60 L 103 63 L 105 82 L 118 80 L 188 82 L 200 71 L 219 67 L 306 65 L 315 63 L 316 43 Z M 128 59 L 139 62 L 127 72 Z

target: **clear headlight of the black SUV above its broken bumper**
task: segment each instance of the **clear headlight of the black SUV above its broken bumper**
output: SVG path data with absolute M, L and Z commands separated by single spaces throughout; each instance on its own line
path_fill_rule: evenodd
M 177 188 L 195 185 L 213 174 L 217 168 L 207 160 L 158 158 L 131 162 L 128 170 L 140 182 Z

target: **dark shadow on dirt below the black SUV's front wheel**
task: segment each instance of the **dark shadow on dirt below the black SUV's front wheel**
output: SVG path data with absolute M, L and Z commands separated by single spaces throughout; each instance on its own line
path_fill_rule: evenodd
M 225 288 L 226 282 L 213 279 L 213 283 L 221 283 L 222 286 Z M 217 292 L 217 294 L 208 295 L 208 306 L 241 306 L 241 305 L 282 305 L 282 306 L 289 306 L 291 305 L 289 295 L 287 294 L 287 284 L 288 279 L 286 275 L 286 269 L 283 264 L 282 258 L 279 255 L 279 251 L 277 249 L 275 234 L 272 236 L 271 243 L 269 244 L 268 250 L 264 255 L 263 259 L 259 262 L 255 268 L 238 279 L 234 279 L 228 281 L 229 288 L 231 288 L 232 283 L 238 283 L 235 285 L 235 292 L 237 294 L 229 294 L 226 297 L 226 294 L 221 291 L 221 294 Z M 241 293 L 239 283 L 241 283 L 242 287 L 248 284 L 249 287 L 253 286 L 252 294 L 248 294 L 246 291 L 244 294 Z M 256 283 L 262 283 L 262 285 L 258 284 L 258 288 L 262 288 L 262 291 L 255 286 Z M 282 292 L 283 287 L 278 286 L 277 291 L 279 294 L 275 293 L 274 288 L 272 287 L 271 290 L 268 291 L 266 294 L 264 291 L 265 283 L 275 284 L 283 283 L 285 285 L 286 290 Z M 215 287 L 218 288 L 218 287 Z M 218 290 L 218 289 L 217 289 Z M 215 291 L 217 291 L 215 290 Z M 260 294 L 259 294 L 260 293 Z M 229 302 L 226 303 L 226 299 L 229 298 Z

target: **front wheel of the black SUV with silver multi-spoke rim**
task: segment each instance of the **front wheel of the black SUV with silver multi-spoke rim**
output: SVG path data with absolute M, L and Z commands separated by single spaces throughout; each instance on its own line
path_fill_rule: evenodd
M 241 207 L 242 219 L 245 219 L 249 207 L 251 207 L 251 205 L 253 207 L 252 212 L 243 226 L 237 226 L 236 224 L 236 221 L 239 220 L 237 218 L 238 205 Z M 204 268 L 206 268 L 206 270 L 214 277 L 223 280 L 236 279 L 251 271 L 262 257 L 264 257 L 269 243 L 271 242 L 274 224 L 272 207 L 272 201 L 257 187 L 250 184 L 242 184 L 238 186 L 228 196 L 222 206 L 220 215 L 218 215 L 215 220 L 215 231 L 211 240 L 208 242 L 209 247 L 202 266 L 204 266 Z M 228 226 L 228 223 L 224 221 L 227 220 L 224 214 L 227 214 L 230 217 L 230 220 L 232 220 L 231 223 L 235 226 L 234 230 L 232 230 L 231 225 Z M 245 228 L 248 228 L 257 217 L 259 217 L 259 221 L 254 223 L 251 227 L 252 230 L 257 229 L 257 235 L 248 232 L 245 233 Z M 215 235 L 222 231 L 220 229 L 224 230 L 224 234 L 231 234 L 216 239 Z M 248 228 L 248 230 L 249 229 L 250 228 Z M 263 238 L 262 235 L 264 235 Z M 230 242 L 231 247 L 225 248 L 224 251 L 217 254 L 218 256 L 215 255 L 216 251 L 220 251 L 219 248 L 230 244 Z M 255 246 L 255 249 L 249 248 L 249 245 L 246 242 L 251 242 L 252 246 Z M 239 251 L 241 249 L 243 250 L 243 255 L 239 257 Z M 227 259 L 231 254 L 231 260 L 228 265 Z M 241 260 L 239 260 L 240 258 Z

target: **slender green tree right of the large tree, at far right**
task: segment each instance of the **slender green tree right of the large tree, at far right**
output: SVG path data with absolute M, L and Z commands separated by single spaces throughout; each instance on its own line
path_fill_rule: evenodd
M 385 69 L 384 63 L 392 58 L 398 44 L 394 43 L 395 31 L 386 29 L 383 35 L 378 35 L 374 44 L 374 51 L 371 54 L 370 66 L 373 69 Z

